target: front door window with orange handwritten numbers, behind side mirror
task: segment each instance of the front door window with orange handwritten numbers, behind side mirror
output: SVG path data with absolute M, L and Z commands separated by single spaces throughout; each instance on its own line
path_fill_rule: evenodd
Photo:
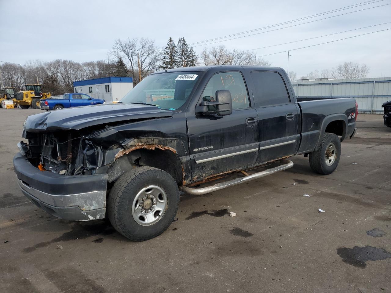
M 213 75 L 201 95 L 202 100 L 215 102 L 216 91 L 220 89 L 230 91 L 233 110 L 250 107 L 246 84 L 240 72 L 223 72 Z

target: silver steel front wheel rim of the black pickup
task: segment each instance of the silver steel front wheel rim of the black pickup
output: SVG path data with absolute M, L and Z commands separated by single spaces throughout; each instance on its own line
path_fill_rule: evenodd
M 141 226 L 150 226 L 158 222 L 168 206 L 168 198 L 164 189 L 157 185 L 149 185 L 141 189 L 131 206 L 133 219 Z

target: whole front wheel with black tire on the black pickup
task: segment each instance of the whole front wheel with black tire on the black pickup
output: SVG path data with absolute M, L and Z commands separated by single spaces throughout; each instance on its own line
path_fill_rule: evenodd
M 178 185 L 169 173 L 138 167 L 115 182 L 109 194 L 107 213 L 118 232 L 133 241 L 144 241 L 169 227 L 178 205 Z

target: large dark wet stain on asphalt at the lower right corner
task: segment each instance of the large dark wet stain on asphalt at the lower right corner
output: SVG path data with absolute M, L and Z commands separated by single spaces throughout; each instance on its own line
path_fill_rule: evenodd
M 337 254 L 343 259 L 344 263 L 356 266 L 357 268 L 365 268 L 366 261 L 391 258 L 391 253 L 384 248 L 376 248 L 368 245 L 365 247 L 355 246 L 353 248 L 340 247 L 337 249 Z

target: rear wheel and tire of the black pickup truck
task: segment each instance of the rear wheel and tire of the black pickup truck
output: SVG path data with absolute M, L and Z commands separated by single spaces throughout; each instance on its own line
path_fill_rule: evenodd
M 334 133 L 325 132 L 319 148 L 310 153 L 312 171 L 328 175 L 337 169 L 341 157 L 341 141 Z

